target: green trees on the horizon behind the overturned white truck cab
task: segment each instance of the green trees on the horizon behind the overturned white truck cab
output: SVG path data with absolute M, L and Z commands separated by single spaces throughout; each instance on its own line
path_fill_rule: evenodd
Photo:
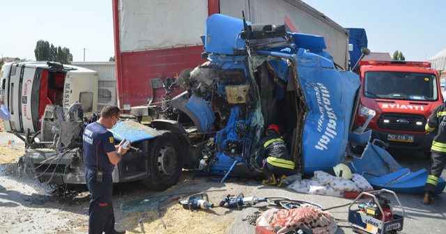
M 55 47 L 52 44 L 49 45 L 49 42 L 46 40 L 38 40 L 34 54 L 37 61 L 55 61 L 64 64 L 71 64 L 72 62 L 70 49 L 62 48 L 61 46 Z

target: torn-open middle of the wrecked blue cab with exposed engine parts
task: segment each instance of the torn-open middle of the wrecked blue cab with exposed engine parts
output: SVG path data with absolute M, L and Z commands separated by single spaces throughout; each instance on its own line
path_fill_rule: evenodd
M 295 89 L 286 90 L 289 65 L 282 59 L 252 56 L 250 59 L 257 64 L 251 70 L 247 57 L 209 57 L 212 62 L 181 72 L 176 83 L 185 93 L 171 102 L 171 107 L 188 116 L 193 116 L 194 108 L 205 105 L 215 115 L 215 120 L 197 116 L 194 121 L 197 132 L 208 135 L 196 169 L 213 174 L 258 176 L 256 144 L 264 137 L 264 127 L 277 123 L 293 130 L 296 125 Z M 279 66 L 285 75 L 277 74 L 273 65 Z M 187 107 L 190 103 L 194 107 Z M 208 115 L 204 114 L 206 110 L 201 111 Z

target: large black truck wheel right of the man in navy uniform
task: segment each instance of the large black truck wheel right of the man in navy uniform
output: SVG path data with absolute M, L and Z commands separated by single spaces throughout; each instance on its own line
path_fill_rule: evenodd
M 171 132 L 148 143 L 148 169 L 150 176 L 142 179 L 149 189 L 163 191 L 176 185 L 183 168 L 183 155 L 178 138 Z

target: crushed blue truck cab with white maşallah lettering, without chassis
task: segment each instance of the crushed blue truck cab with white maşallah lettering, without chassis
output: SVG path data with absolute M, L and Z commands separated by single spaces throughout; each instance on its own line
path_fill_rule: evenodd
M 323 37 L 212 15 L 202 39 L 208 62 L 178 77 L 185 93 L 171 102 L 208 136 L 195 170 L 259 176 L 258 143 L 266 126 L 275 123 L 286 128 L 300 173 L 344 162 L 378 188 L 422 193 L 425 170 L 403 169 L 382 146 L 369 146 L 369 132 L 352 132 L 360 79 L 333 63 Z M 182 104 L 189 101 L 208 108 Z M 364 152 L 353 153 L 351 142 Z M 379 173 L 370 173 L 370 166 Z M 442 179 L 437 192 L 444 187 Z

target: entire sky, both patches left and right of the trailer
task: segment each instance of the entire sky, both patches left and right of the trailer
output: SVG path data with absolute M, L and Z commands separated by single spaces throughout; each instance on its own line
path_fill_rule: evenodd
M 372 52 L 403 52 L 425 61 L 446 49 L 446 1 L 304 0 L 339 25 L 364 28 Z M 74 61 L 114 55 L 112 0 L 22 0 L 1 3 L 0 54 L 35 59 L 40 39 L 68 47 Z

